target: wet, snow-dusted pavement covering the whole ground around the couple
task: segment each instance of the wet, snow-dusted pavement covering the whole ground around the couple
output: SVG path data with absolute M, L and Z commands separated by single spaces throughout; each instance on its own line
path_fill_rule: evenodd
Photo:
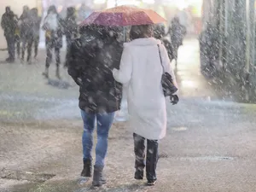
M 168 104 L 168 131 L 160 142 L 154 188 L 132 178 L 132 134 L 125 122 L 116 122 L 110 133 L 107 186 L 95 190 L 90 183 L 79 184 L 79 90 L 67 70 L 61 68 L 61 76 L 70 87 L 63 89 L 43 78 L 43 59 L 32 65 L 1 64 L 0 171 L 55 177 L 43 184 L 0 179 L 0 191 L 255 191 L 256 106 L 223 101 L 216 94 L 201 75 L 198 46 L 196 39 L 188 39 L 179 50 L 181 100 L 177 106 Z M 55 82 L 55 66 L 50 70 Z

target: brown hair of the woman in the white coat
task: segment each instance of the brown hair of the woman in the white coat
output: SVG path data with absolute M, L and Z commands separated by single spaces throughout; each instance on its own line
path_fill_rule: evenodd
M 152 25 L 131 26 L 130 38 L 131 40 L 137 38 L 151 38 L 153 37 L 153 32 Z

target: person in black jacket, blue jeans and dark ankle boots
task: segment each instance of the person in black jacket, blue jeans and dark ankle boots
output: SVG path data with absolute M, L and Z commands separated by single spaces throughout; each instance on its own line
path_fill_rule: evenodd
M 83 177 L 91 177 L 92 143 L 95 120 L 97 122 L 96 162 L 94 186 L 106 183 L 102 177 L 104 160 L 108 150 L 108 131 L 113 123 L 114 112 L 120 108 L 122 86 L 113 79 L 113 67 L 119 68 L 122 44 L 118 32 L 89 26 L 71 45 L 67 61 L 68 73 L 79 85 L 79 108 L 84 121 Z

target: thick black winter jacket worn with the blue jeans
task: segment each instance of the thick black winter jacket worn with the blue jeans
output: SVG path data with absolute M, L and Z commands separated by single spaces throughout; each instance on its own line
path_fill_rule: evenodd
M 122 85 L 112 74 L 113 67 L 119 68 L 122 45 L 100 36 L 87 33 L 75 39 L 67 61 L 68 73 L 80 87 L 79 108 L 88 113 L 115 112 L 122 96 Z

